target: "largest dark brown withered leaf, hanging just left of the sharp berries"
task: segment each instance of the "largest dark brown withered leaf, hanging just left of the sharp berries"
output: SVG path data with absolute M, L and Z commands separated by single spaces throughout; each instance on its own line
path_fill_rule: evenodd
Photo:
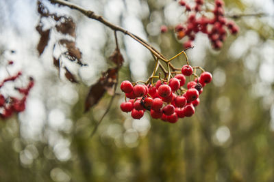
M 99 102 L 105 91 L 112 89 L 113 85 L 117 82 L 117 74 L 118 68 L 109 68 L 106 72 L 103 72 L 97 83 L 90 87 L 90 91 L 86 97 L 85 112 Z

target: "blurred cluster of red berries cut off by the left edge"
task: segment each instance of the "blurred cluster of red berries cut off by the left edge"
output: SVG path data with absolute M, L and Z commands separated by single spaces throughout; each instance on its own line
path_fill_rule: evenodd
M 15 76 L 10 76 L 5 78 L 1 84 L 0 89 L 5 85 L 5 82 L 14 81 L 19 76 L 21 76 L 21 72 L 18 72 Z M 22 112 L 25 110 L 25 102 L 27 100 L 27 95 L 29 94 L 30 89 L 34 87 L 34 79 L 32 77 L 29 78 L 29 83 L 25 88 L 14 88 L 16 91 L 21 93 L 23 97 L 16 98 L 12 96 L 5 96 L 0 93 L 0 117 L 6 119 L 11 117 L 14 112 Z

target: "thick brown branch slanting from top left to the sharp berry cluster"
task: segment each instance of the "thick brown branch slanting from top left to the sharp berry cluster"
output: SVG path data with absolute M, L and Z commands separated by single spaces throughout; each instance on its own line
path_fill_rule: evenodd
M 164 56 L 158 50 L 156 50 L 151 45 L 149 45 L 147 42 L 145 42 L 145 40 L 142 40 L 142 38 L 138 37 L 137 35 L 134 35 L 133 33 L 130 33 L 129 31 L 127 31 L 126 29 L 123 29 L 122 27 L 119 27 L 117 25 L 113 25 L 111 22 L 108 22 L 108 20 L 105 20 L 105 18 L 103 18 L 102 16 L 99 16 L 99 15 L 95 14 L 95 12 L 92 12 L 90 10 L 85 10 L 83 7 L 80 7 L 79 5 L 75 5 L 73 3 L 63 1 L 63 0 L 49 0 L 49 1 L 51 1 L 51 3 L 58 3 L 60 5 L 70 7 L 73 10 L 77 10 L 77 11 L 81 12 L 82 14 L 87 16 L 88 18 L 92 18 L 94 20 L 97 20 L 97 21 L 103 23 L 103 25 L 105 25 L 107 27 L 110 27 L 110 29 L 112 29 L 114 31 L 121 31 L 125 35 L 129 35 L 134 40 L 136 40 L 137 42 L 142 44 L 142 46 L 145 46 L 148 50 L 150 50 L 153 53 L 153 55 L 158 57 L 158 59 L 162 59 L 163 61 L 166 61 Z

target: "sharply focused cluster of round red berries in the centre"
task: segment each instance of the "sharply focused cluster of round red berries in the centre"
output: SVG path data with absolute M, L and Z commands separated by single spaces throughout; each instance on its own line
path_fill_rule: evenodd
M 182 74 L 176 74 L 169 82 L 158 80 L 153 85 L 133 85 L 125 80 L 121 83 L 121 90 L 129 101 L 123 102 L 120 108 L 123 112 L 131 112 L 134 119 L 140 119 L 145 110 L 149 110 L 152 118 L 170 123 L 176 123 L 178 118 L 191 117 L 200 102 L 199 95 L 203 87 L 212 80 L 212 74 L 203 72 L 187 83 L 188 89 L 183 89 L 185 76 L 192 74 L 193 68 L 184 65 Z

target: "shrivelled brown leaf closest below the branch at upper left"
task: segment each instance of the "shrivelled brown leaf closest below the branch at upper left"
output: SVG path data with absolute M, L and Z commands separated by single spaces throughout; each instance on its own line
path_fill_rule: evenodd
M 72 18 L 66 18 L 62 16 L 62 18 L 55 25 L 57 31 L 63 34 L 69 34 L 75 37 L 75 23 Z

